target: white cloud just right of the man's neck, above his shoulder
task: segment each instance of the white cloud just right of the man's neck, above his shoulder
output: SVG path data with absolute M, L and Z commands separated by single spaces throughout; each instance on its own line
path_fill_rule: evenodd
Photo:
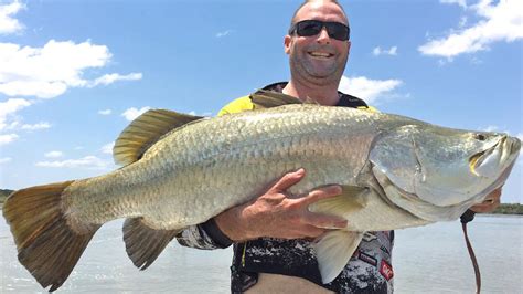
M 365 76 L 342 76 L 339 90 L 343 93 L 363 98 L 369 104 L 376 104 L 380 96 L 402 85 L 399 80 L 370 80 Z

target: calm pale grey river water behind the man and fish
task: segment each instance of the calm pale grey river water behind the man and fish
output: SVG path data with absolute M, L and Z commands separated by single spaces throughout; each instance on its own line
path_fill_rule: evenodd
M 0 221 L 0 293 L 45 293 L 17 260 Z M 121 221 L 98 230 L 57 293 L 228 293 L 231 250 L 185 249 L 175 242 L 146 271 L 125 252 Z M 482 274 L 483 293 L 523 293 L 523 218 L 480 216 L 469 238 Z M 396 293 L 473 293 L 474 273 L 459 222 L 396 231 Z

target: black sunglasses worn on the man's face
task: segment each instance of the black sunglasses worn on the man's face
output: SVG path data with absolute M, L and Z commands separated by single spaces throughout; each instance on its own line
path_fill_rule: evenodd
M 343 23 L 321 20 L 302 20 L 292 24 L 289 29 L 289 34 L 295 32 L 299 36 L 317 35 L 321 32 L 323 27 L 327 28 L 327 33 L 330 38 L 346 41 L 350 38 L 351 29 Z

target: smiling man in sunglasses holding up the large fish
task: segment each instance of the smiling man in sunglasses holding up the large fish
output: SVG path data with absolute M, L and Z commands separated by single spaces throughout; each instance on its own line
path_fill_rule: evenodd
M 321 105 L 371 109 L 363 101 L 338 92 L 351 48 L 349 32 L 349 20 L 335 0 L 306 1 L 295 12 L 284 41 L 290 81 L 265 90 Z M 220 115 L 252 108 L 245 96 Z M 321 283 L 311 240 L 327 232 L 322 228 L 344 228 L 346 221 L 308 211 L 310 203 L 338 196 L 338 186 L 305 196 L 286 192 L 305 175 L 302 169 L 285 175 L 257 199 L 186 229 L 179 242 L 200 249 L 226 248 L 234 242 L 233 293 L 392 292 L 393 231 L 369 233 L 342 273 L 329 284 Z M 492 201 L 477 210 L 492 210 L 499 198 L 500 191 L 495 191 L 489 198 Z

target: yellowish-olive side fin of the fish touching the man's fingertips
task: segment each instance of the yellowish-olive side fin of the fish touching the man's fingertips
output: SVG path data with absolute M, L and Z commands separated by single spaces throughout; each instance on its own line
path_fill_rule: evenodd
M 366 206 L 369 188 L 359 186 L 341 186 L 342 192 L 337 197 L 321 199 L 309 206 L 312 212 L 334 214 L 344 217 L 348 213 L 359 211 Z

